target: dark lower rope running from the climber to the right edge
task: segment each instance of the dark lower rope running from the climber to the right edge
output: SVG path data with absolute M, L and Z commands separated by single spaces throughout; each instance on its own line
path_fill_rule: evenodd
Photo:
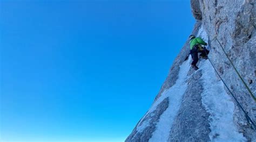
M 204 51 L 205 51 L 205 50 L 204 50 Z M 207 55 L 206 51 L 205 51 L 205 54 Z M 241 110 L 245 113 L 245 117 L 246 117 L 246 119 L 247 119 L 247 122 L 249 122 L 249 124 L 252 124 L 252 125 L 253 125 L 254 128 L 252 127 L 252 129 L 255 131 L 256 126 L 255 126 L 253 120 L 251 119 L 251 117 L 248 115 L 248 112 L 246 112 L 246 111 L 244 110 L 244 108 L 242 108 L 242 105 L 238 102 L 237 98 L 236 98 L 236 97 L 234 96 L 234 94 L 231 92 L 230 88 L 227 87 L 227 84 L 224 82 L 224 80 L 222 79 L 222 77 L 219 75 L 217 69 L 214 67 L 214 65 L 213 65 L 212 61 L 210 60 L 210 58 L 209 58 L 208 56 L 207 56 L 207 58 L 208 58 L 208 60 L 210 61 L 211 65 L 212 65 L 212 67 L 214 68 L 214 70 L 215 70 L 215 72 L 217 73 L 217 75 L 220 77 L 220 80 L 224 83 L 224 85 L 225 85 L 225 87 L 227 88 L 227 90 L 230 91 L 230 94 L 233 96 L 235 102 L 237 102 L 238 106 L 239 106 L 239 107 L 241 108 Z

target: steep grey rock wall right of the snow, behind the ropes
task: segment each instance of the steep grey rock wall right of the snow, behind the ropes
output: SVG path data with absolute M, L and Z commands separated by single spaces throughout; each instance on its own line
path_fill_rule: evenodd
M 238 98 L 248 115 L 256 122 L 256 103 L 225 57 L 218 41 L 224 47 L 247 86 L 255 95 L 256 90 L 256 1 L 201 1 L 202 23 L 209 35 L 211 59 L 228 87 Z M 222 58 L 221 58 L 222 57 Z M 250 83 L 250 80 L 252 82 Z M 235 103 L 235 102 L 234 102 Z M 236 105 L 237 106 L 237 105 Z M 235 124 L 248 140 L 256 139 L 255 131 L 246 123 L 244 113 L 235 108 Z M 253 135 L 252 135 L 253 134 Z

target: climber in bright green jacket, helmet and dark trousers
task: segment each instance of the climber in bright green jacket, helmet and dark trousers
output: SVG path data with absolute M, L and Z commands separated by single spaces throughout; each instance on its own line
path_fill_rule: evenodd
M 190 36 L 190 54 L 193 59 L 191 63 L 191 67 L 195 70 L 198 70 L 197 62 L 198 62 L 198 53 L 201 53 L 200 58 L 207 59 L 207 55 L 210 51 L 208 51 L 204 46 L 207 46 L 207 43 L 201 39 L 200 37 L 195 37 L 194 35 Z

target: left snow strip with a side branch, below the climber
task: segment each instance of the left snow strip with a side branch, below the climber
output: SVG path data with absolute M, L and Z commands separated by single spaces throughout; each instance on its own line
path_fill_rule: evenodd
M 188 70 L 190 69 L 190 61 L 191 57 L 180 65 L 179 75 L 176 83 L 171 88 L 165 90 L 151 108 L 156 109 L 156 106 L 163 101 L 164 98 L 169 97 L 169 106 L 160 116 L 159 122 L 156 125 L 156 130 L 153 132 L 152 137 L 149 140 L 150 142 L 167 141 L 170 136 L 173 120 L 177 116 L 181 105 L 181 100 L 187 89 L 187 84 L 185 82 L 187 79 Z

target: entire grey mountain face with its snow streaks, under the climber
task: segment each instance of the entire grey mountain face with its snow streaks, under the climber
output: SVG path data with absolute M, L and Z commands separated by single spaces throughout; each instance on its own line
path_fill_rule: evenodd
M 192 34 L 208 42 L 209 59 L 256 124 L 256 102 L 245 87 L 255 97 L 256 1 L 191 0 L 191 8 L 198 20 Z M 174 60 L 152 107 L 125 141 L 256 141 L 256 127 L 209 60 L 200 59 L 196 72 L 190 69 L 188 46 L 189 41 Z

